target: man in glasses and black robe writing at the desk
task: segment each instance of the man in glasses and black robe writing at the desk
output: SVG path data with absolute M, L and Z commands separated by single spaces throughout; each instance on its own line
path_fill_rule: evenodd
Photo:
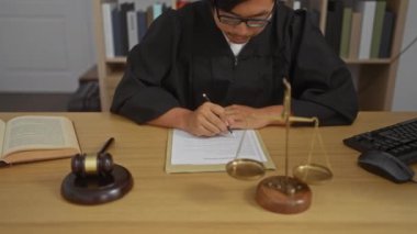
M 322 125 L 356 119 L 350 73 L 307 12 L 275 0 L 199 1 L 153 23 L 111 111 L 198 136 L 259 129 L 280 124 L 264 116 L 281 114 L 284 77 L 294 115 Z

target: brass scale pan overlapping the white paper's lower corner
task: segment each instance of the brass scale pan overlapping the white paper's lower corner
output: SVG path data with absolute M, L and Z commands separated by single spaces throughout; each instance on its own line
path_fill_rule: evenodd
M 255 180 L 263 177 L 262 163 L 249 158 L 237 158 L 226 164 L 226 171 L 230 177 L 240 180 Z

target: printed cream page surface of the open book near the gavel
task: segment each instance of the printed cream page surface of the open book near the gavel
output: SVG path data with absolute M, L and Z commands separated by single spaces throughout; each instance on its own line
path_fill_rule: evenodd
M 19 116 L 5 126 L 3 157 L 20 151 L 79 148 L 70 120 L 64 116 Z

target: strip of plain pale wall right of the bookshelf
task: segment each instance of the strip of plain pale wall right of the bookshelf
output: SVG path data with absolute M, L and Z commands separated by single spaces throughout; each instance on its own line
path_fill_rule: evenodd
M 417 1 L 408 1 L 403 48 L 417 36 Z M 393 111 L 417 111 L 417 43 L 399 58 Z

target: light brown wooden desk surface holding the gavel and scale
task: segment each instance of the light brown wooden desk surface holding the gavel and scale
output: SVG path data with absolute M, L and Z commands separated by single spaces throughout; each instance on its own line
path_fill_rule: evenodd
M 57 113 L 54 113 L 57 114 Z M 0 169 L 0 233 L 415 233 L 417 185 L 396 185 L 356 164 L 358 152 L 342 138 L 417 116 L 417 113 L 361 113 L 352 126 L 323 127 L 335 178 L 312 186 L 313 203 L 301 214 L 262 210 L 253 199 L 257 181 L 223 172 L 167 175 L 167 130 L 139 126 L 108 113 L 58 113 L 75 121 L 81 147 L 94 152 L 115 137 L 110 152 L 127 167 L 134 188 L 121 200 L 94 207 L 68 203 L 59 192 L 69 159 Z M 10 119 L 11 113 L 0 113 Z M 283 129 L 262 138 L 283 175 Z M 311 129 L 291 133 L 291 164 L 308 151 Z M 320 158 L 316 156 L 316 158 Z M 414 169 L 417 169 L 414 167 Z

